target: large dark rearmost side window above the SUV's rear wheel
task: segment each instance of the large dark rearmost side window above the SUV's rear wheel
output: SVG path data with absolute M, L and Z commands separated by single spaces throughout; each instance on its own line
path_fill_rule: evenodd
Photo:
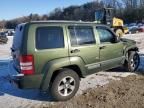
M 61 27 L 40 27 L 36 30 L 36 48 L 53 49 L 64 47 L 63 29 Z

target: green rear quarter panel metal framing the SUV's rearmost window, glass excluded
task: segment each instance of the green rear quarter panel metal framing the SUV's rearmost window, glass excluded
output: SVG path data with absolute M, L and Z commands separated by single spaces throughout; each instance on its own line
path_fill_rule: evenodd
M 34 66 L 35 66 L 35 73 L 40 74 L 43 73 L 42 69 L 44 65 L 51 60 L 55 60 L 58 58 L 68 57 L 68 44 L 67 44 L 67 37 L 65 30 L 64 31 L 64 48 L 57 48 L 57 49 L 44 49 L 38 50 L 36 49 L 36 29 L 38 27 L 47 27 L 47 26 L 59 26 L 59 25 L 50 25 L 50 24 L 32 24 L 30 25 L 29 29 L 29 36 L 28 36 L 28 54 L 34 55 Z M 60 26 L 63 28 L 63 26 Z

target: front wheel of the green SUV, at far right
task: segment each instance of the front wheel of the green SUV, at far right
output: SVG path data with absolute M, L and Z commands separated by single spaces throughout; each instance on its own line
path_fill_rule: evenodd
M 128 54 L 128 61 L 125 64 L 127 71 L 135 72 L 140 64 L 140 57 L 137 52 L 130 51 Z

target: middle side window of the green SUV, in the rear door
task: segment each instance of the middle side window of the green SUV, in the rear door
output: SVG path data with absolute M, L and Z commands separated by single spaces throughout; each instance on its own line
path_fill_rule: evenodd
M 68 29 L 72 46 L 89 45 L 96 43 L 92 27 L 70 26 Z

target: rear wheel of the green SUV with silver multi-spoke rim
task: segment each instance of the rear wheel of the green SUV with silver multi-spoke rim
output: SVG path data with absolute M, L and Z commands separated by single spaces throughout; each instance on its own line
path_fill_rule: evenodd
M 50 92 L 55 101 L 66 101 L 72 98 L 79 89 L 79 76 L 70 69 L 59 71 L 51 83 Z

